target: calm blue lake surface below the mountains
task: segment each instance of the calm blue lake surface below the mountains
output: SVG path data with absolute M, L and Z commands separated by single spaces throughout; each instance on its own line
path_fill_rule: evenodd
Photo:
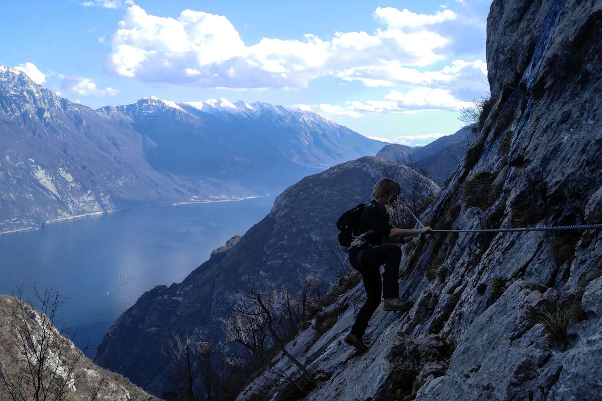
M 264 218 L 274 198 L 143 207 L 0 236 L 0 293 L 56 284 L 68 298 L 60 313 L 67 332 L 93 357 L 142 293 L 182 281 L 213 249 Z

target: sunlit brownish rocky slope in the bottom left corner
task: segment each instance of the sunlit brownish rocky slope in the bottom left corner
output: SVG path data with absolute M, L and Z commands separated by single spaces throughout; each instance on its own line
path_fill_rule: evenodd
M 8 373 L 10 381 L 16 383 L 17 378 L 23 377 L 19 376 L 17 372 L 28 369 L 24 358 L 20 360 L 19 364 L 13 364 L 14 358 L 11 357 L 12 354 L 22 353 L 19 342 L 21 338 L 17 334 L 15 325 L 22 324 L 22 319 L 26 319 L 32 334 L 31 337 L 23 338 L 45 338 L 46 341 L 52 343 L 52 347 L 49 347 L 47 352 L 41 351 L 40 348 L 37 348 L 37 352 L 39 352 L 38 355 L 45 355 L 49 361 L 46 366 L 52 369 L 53 372 L 57 372 L 55 382 L 60 384 L 67 377 L 75 378 L 75 381 L 68 382 L 67 385 L 67 394 L 65 395 L 69 399 L 90 400 L 94 397 L 96 389 L 99 388 L 95 398 L 99 401 L 159 401 L 156 397 L 133 385 L 123 376 L 93 364 L 82 354 L 81 350 L 73 345 L 66 335 L 60 334 L 54 326 L 45 326 L 46 334 L 42 337 L 42 326 L 40 325 L 41 319 L 43 319 L 42 313 L 29 307 L 24 302 L 25 309 L 22 310 L 17 306 L 17 302 L 23 301 L 12 296 L 0 295 L 0 364 L 2 364 L 3 372 Z M 22 314 L 22 311 L 25 314 Z M 40 344 L 37 343 L 33 346 L 40 347 Z M 33 357 L 33 355 L 30 355 L 30 357 Z M 61 362 L 56 364 L 55 361 L 59 357 Z M 78 357 L 81 357 L 81 359 L 78 363 L 73 364 L 73 361 Z M 33 366 L 37 365 L 34 364 Z M 74 366 L 74 369 L 68 375 L 71 366 Z M 49 372 L 48 376 L 43 377 L 49 378 L 51 375 L 52 372 Z M 104 379 L 102 379 L 103 377 Z M 28 375 L 25 375 L 25 378 L 28 378 Z M 28 388 L 25 382 L 26 380 L 20 385 L 21 390 L 25 390 L 23 395 L 31 397 L 27 399 L 34 399 L 33 388 Z M 5 383 L 5 381 L 0 382 L 0 400 L 11 399 Z M 48 386 L 48 383 L 45 382 L 45 385 Z M 31 390 L 31 393 L 27 390 Z M 51 397 L 51 394 L 48 394 L 48 397 Z M 40 398 L 42 398 L 41 393 Z

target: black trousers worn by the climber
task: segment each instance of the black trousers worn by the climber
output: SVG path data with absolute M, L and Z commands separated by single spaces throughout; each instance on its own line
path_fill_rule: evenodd
M 354 261 L 352 266 L 362 274 L 364 289 L 368 297 L 366 303 L 355 317 L 355 323 L 351 332 L 362 338 L 368 320 L 380 305 L 380 287 L 385 298 L 397 298 L 399 296 L 399 263 L 402 260 L 402 249 L 396 245 L 380 245 L 366 248 L 360 251 L 361 266 Z M 354 257 L 356 254 L 353 254 Z M 385 265 L 385 272 L 380 281 L 380 265 Z

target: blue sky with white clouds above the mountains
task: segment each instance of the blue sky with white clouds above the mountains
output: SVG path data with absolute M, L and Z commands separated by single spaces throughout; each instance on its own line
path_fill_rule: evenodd
M 92 108 L 225 97 L 423 145 L 486 97 L 490 0 L 3 0 L 0 64 Z

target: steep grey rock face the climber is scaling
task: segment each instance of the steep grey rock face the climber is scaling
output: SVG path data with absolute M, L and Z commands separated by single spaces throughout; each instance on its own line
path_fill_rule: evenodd
M 422 214 L 437 228 L 602 222 L 602 2 L 495 0 L 491 100 L 476 144 Z M 318 376 L 304 400 L 600 400 L 602 233 L 433 234 L 406 245 L 403 314 L 377 310 L 370 349 L 343 337 L 361 285 L 315 341 L 288 349 Z M 291 374 L 287 358 L 276 369 Z M 266 378 L 272 373 L 264 373 Z M 279 379 L 276 378 L 276 381 Z M 257 379 L 239 400 L 282 400 Z

